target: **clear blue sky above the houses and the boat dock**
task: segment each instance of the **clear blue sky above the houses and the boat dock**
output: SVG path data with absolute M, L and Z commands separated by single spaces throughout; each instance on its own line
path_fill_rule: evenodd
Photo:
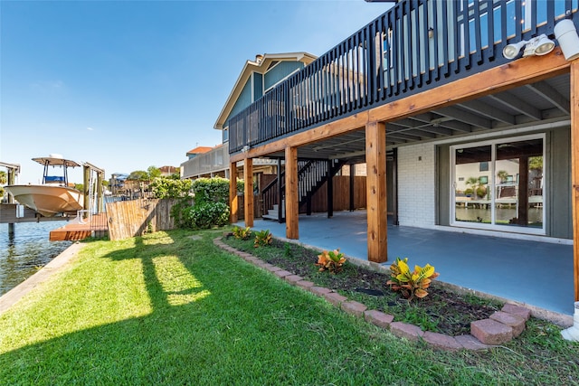
M 257 53 L 321 55 L 390 5 L 0 1 L 0 161 L 38 183 L 52 153 L 112 173 L 178 166 Z M 71 181 L 81 183 L 79 168 Z

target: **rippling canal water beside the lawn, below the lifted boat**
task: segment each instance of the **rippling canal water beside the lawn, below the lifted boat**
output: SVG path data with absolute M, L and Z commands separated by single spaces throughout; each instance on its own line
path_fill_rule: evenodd
M 49 241 L 50 231 L 67 221 L 14 224 L 14 238 L 8 224 L 0 224 L 0 296 L 31 277 L 67 249 L 72 241 Z

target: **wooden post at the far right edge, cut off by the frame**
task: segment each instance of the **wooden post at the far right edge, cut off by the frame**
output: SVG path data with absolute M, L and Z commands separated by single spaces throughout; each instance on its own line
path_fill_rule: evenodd
M 573 277 L 579 301 L 579 60 L 571 61 L 571 185 L 573 192 Z

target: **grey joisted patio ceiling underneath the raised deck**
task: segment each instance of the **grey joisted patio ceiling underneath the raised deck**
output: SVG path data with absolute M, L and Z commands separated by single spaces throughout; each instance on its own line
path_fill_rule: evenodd
M 389 148 L 419 141 L 469 136 L 544 120 L 570 119 L 569 75 L 508 89 L 428 113 L 386 123 Z M 365 160 L 365 129 L 299 146 L 299 157 L 335 159 L 348 163 Z M 273 156 L 283 157 L 283 154 Z

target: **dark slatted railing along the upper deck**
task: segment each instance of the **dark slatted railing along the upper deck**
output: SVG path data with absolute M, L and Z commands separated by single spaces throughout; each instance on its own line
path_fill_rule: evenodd
M 578 1 L 400 2 L 230 118 L 229 153 L 500 66 Z

